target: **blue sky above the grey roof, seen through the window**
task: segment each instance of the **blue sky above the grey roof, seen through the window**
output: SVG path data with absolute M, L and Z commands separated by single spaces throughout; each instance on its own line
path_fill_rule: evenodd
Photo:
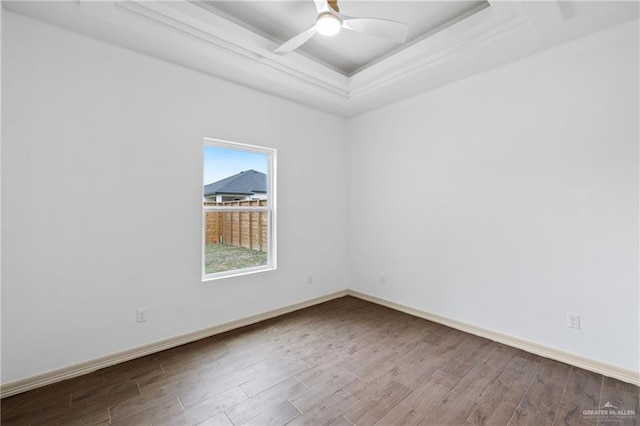
M 214 146 L 204 147 L 204 185 L 249 169 L 267 173 L 267 155 Z

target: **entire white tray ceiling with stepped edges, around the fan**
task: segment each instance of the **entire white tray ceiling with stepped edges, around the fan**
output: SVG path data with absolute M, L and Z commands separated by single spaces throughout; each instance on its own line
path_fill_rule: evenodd
M 6 1 L 41 19 L 344 117 L 413 96 L 628 20 L 635 1 L 340 0 L 349 16 L 409 24 L 397 45 L 362 33 L 316 36 L 313 0 Z

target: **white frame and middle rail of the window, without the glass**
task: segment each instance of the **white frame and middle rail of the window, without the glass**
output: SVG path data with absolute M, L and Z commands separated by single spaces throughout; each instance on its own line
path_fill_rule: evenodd
M 277 269 L 277 244 L 276 244 L 276 160 L 277 150 L 275 148 L 267 148 L 258 145 L 249 145 L 240 142 L 231 142 L 222 139 L 204 138 L 204 146 L 202 149 L 202 174 L 204 175 L 204 151 L 207 146 L 216 148 L 233 149 L 237 151 L 254 152 L 265 154 L 267 156 L 267 205 L 266 206 L 202 206 L 202 281 L 213 281 L 227 277 L 237 277 L 241 275 L 255 274 L 258 272 L 272 271 Z M 202 181 L 200 181 L 202 182 Z M 200 186 L 202 191 L 202 186 Z M 200 197 L 201 202 L 204 199 Z M 233 212 L 267 212 L 267 264 L 254 266 L 250 268 L 234 269 L 230 271 L 214 272 L 207 274 L 205 272 L 206 257 L 206 213 L 215 211 L 233 211 Z

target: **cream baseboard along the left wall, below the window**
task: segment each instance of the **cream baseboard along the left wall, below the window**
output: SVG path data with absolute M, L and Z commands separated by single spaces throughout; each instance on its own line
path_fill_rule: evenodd
M 135 358 L 140 358 L 156 352 L 164 351 L 166 349 L 174 348 L 186 343 L 195 342 L 196 340 L 211 337 L 216 334 L 224 333 L 226 331 L 234 330 L 240 327 L 245 327 L 247 325 L 255 324 L 257 322 L 264 321 L 270 318 L 275 318 L 280 315 L 288 314 L 289 312 L 304 309 L 309 306 L 314 306 L 319 303 L 327 302 L 329 300 L 337 299 L 346 295 L 346 290 L 338 291 L 336 293 L 331 293 L 325 296 L 305 300 L 303 302 L 294 303 L 282 308 L 262 312 L 247 318 L 226 322 L 220 325 L 214 325 L 212 327 L 203 328 L 191 333 L 170 337 L 168 339 L 159 340 L 157 342 L 148 343 L 146 345 L 137 346 L 135 348 L 126 349 L 124 351 L 90 359 L 88 361 L 70 365 L 68 367 L 47 371 L 45 373 L 5 383 L 0 385 L 0 398 L 16 395 L 18 393 L 50 385 L 62 380 L 71 379 L 73 377 L 82 376 L 83 374 L 91 373 L 101 368 L 109 367 L 111 365 L 119 364 L 125 361 L 130 361 Z

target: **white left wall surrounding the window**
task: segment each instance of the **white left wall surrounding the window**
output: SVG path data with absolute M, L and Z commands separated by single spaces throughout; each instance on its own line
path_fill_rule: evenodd
M 2 30 L 3 383 L 347 287 L 343 119 L 7 11 Z M 205 136 L 278 149 L 277 271 L 201 282 Z

